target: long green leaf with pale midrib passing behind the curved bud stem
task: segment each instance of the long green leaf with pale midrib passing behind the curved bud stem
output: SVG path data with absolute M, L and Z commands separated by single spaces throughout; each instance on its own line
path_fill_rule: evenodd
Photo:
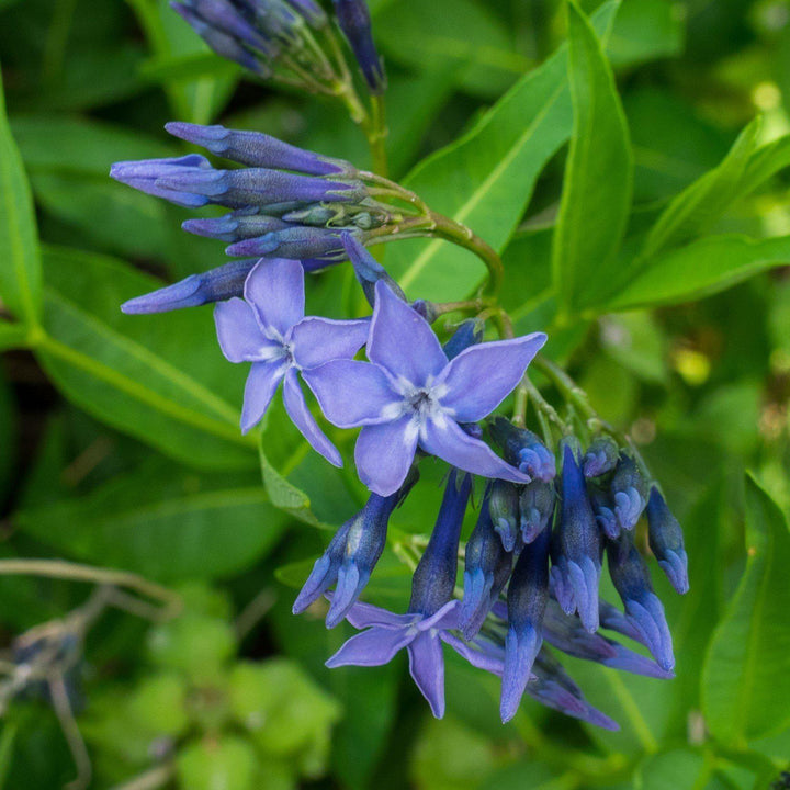
M 592 16 L 599 32 L 618 3 Z M 435 211 L 463 223 L 501 251 L 530 200 L 544 165 L 571 135 L 567 47 L 523 77 L 469 133 L 420 162 L 405 180 Z M 472 253 L 448 242 L 404 241 L 387 250 L 386 266 L 410 294 L 464 298 L 484 274 Z

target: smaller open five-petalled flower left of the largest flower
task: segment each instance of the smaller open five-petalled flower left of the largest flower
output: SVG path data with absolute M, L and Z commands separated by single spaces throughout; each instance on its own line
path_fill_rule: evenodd
M 283 382 L 291 419 L 315 450 L 341 466 L 340 453 L 307 408 L 297 374 L 353 357 L 365 342 L 369 321 L 305 318 L 304 271 L 297 261 L 280 259 L 260 261 L 247 278 L 245 298 L 217 304 L 214 317 L 225 357 L 230 362 L 252 362 L 241 430 L 247 432 L 260 421 Z

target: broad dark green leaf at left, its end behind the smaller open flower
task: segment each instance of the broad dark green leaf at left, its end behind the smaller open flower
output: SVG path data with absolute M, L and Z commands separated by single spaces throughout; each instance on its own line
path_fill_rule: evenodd
M 161 285 L 102 256 L 45 250 L 45 329 L 36 348 L 53 383 L 109 425 L 190 465 L 255 465 L 238 427 L 241 365 L 221 354 L 208 311 L 125 316 Z

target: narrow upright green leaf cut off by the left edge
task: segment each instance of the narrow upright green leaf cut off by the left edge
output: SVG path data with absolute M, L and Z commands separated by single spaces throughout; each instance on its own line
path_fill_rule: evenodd
M 33 198 L 5 116 L 0 72 L 0 297 L 29 326 L 41 317 L 41 276 Z

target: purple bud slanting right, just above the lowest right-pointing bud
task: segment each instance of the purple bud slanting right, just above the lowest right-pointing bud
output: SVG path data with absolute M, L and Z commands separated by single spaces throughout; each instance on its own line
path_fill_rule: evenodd
M 668 678 L 672 673 L 662 669 L 655 662 L 602 636 L 589 633 L 576 617 L 563 613 L 560 605 L 550 600 L 543 619 L 543 639 L 567 655 L 584 661 L 594 661 L 611 669 L 622 669 L 634 675 Z

